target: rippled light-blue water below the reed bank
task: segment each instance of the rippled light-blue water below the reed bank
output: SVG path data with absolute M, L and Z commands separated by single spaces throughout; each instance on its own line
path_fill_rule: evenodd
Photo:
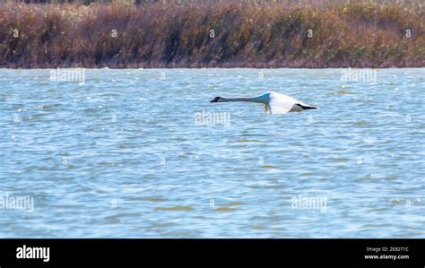
M 424 238 L 424 73 L 0 69 L 0 237 Z

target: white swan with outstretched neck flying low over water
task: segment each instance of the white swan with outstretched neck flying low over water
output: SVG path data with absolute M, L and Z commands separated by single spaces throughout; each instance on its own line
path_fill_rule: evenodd
M 263 95 L 252 97 L 252 98 L 223 98 L 215 97 L 210 102 L 230 102 L 230 101 L 249 101 L 265 104 L 266 115 L 282 115 L 288 112 L 300 112 L 305 109 L 317 108 L 312 105 L 305 104 L 297 99 L 293 99 L 290 96 L 283 95 L 281 93 L 269 91 Z

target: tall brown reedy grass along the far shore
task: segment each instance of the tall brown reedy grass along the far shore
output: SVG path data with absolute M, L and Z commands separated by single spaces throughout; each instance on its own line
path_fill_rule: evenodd
M 0 66 L 425 66 L 419 0 L 151 2 L 0 4 Z

